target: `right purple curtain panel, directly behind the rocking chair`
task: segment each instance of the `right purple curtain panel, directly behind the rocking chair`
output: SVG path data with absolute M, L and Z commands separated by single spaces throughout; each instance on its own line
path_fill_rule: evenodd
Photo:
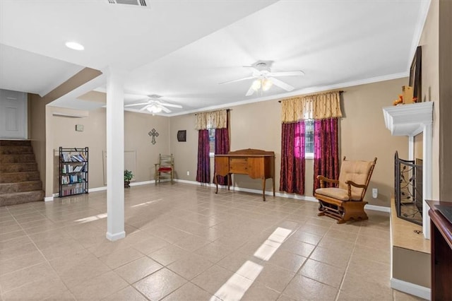
M 339 178 L 338 118 L 314 121 L 314 191 L 320 188 L 318 175 Z M 328 184 L 328 183 L 326 183 Z M 333 187 L 330 184 L 329 187 Z

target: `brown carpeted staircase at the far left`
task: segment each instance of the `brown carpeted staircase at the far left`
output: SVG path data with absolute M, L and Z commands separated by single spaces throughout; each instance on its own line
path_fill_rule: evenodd
M 43 200 L 30 141 L 0 140 L 0 207 Z

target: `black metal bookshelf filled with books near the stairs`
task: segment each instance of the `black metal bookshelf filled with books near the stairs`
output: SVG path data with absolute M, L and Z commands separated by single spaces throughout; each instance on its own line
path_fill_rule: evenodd
M 59 196 L 88 194 L 88 148 L 59 148 Z

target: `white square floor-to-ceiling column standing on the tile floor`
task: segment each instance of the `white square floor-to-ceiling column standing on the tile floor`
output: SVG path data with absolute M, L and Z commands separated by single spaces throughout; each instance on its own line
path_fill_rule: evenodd
M 120 240 L 124 231 L 124 72 L 107 74 L 107 239 Z

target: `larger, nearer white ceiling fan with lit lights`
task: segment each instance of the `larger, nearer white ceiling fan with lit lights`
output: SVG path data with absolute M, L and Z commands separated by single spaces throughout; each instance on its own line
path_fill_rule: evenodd
M 249 87 L 248 92 L 246 92 L 246 96 L 253 95 L 259 89 L 266 91 L 271 88 L 272 85 L 276 85 L 277 87 L 286 90 L 292 91 L 295 88 L 292 85 L 289 85 L 283 81 L 280 81 L 276 76 L 304 76 L 304 72 L 301 70 L 295 71 L 277 71 L 272 72 L 270 67 L 273 61 L 256 61 L 256 63 L 251 66 L 244 66 L 254 69 L 251 76 L 247 76 L 244 78 L 234 79 L 232 81 L 225 81 L 224 83 L 235 83 L 236 81 L 246 81 L 248 79 L 254 78 L 253 83 L 251 83 L 251 87 Z

